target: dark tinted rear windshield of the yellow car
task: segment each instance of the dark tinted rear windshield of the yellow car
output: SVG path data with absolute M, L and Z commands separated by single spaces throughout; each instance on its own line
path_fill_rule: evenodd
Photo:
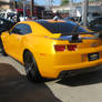
M 76 23 L 68 21 L 68 22 L 39 22 L 45 29 L 48 29 L 52 33 L 71 33 L 73 29 L 76 27 Z M 75 32 L 88 32 L 84 28 L 78 27 Z

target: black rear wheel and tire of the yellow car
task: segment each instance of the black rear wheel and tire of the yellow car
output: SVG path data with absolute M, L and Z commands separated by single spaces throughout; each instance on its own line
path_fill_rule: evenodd
M 42 78 L 40 75 L 37 62 L 31 52 L 27 51 L 24 53 L 23 61 L 24 61 L 24 69 L 26 69 L 27 78 L 30 81 L 34 81 L 34 82 L 41 81 Z

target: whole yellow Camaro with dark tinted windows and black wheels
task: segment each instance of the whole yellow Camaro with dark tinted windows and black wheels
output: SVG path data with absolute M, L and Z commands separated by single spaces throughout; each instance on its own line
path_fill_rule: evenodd
M 102 67 L 102 40 L 71 21 L 19 22 L 1 34 L 1 41 L 2 53 L 21 62 L 27 76 L 34 81 Z

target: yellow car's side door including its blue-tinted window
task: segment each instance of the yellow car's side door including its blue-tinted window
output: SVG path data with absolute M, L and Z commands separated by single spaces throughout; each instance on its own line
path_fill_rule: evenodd
M 13 57 L 14 59 L 21 59 L 21 52 L 23 48 L 23 38 L 26 38 L 27 34 L 30 34 L 31 28 L 28 24 L 20 23 L 17 24 L 13 30 L 10 32 L 9 35 L 9 54 Z

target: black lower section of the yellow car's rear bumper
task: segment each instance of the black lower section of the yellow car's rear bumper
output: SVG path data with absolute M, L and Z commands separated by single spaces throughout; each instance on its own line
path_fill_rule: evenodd
M 95 67 L 90 67 L 90 68 L 84 68 L 84 69 L 64 70 L 64 71 L 60 72 L 59 78 L 73 76 L 73 75 L 78 75 L 78 74 L 81 74 L 81 73 L 88 73 L 88 72 L 96 71 L 96 70 L 100 70 L 100 69 L 102 69 L 102 64 L 95 65 Z

